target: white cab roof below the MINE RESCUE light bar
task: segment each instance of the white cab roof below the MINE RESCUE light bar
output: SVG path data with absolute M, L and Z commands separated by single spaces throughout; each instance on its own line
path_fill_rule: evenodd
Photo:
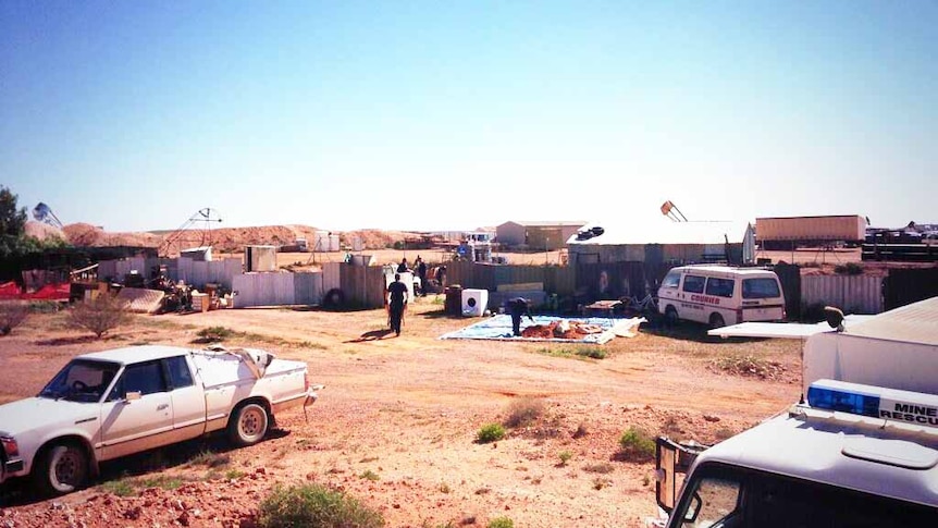
M 851 415 L 843 419 L 842 413 L 814 409 L 806 413 L 815 416 L 786 413 L 772 418 L 705 451 L 696 464 L 723 462 L 938 506 L 938 431 L 912 434 L 897 430 L 900 426 L 878 428 L 883 420 Z M 844 450 L 855 451 L 857 446 L 883 457 L 898 452 L 924 459 L 926 468 L 910 469 L 844 454 Z

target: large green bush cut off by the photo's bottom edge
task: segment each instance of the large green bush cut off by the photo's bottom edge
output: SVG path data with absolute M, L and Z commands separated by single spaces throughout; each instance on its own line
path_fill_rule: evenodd
M 260 503 L 261 528 L 372 528 L 384 526 L 378 512 L 341 491 L 320 484 L 275 488 Z

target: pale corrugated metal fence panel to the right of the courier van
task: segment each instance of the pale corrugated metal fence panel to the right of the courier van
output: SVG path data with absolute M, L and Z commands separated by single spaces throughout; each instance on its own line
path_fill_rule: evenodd
M 848 314 L 879 314 L 884 310 L 883 278 L 871 275 L 804 275 L 801 278 L 802 306 L 836 306 Z

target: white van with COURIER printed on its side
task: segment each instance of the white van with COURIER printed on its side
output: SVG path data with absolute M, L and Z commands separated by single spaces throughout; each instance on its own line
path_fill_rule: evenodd
M 711 328 L 744 321 L 781 321 L 785 295 L 774 271 L 727 266 L 681 266 L 658 287 L 658 310 Z

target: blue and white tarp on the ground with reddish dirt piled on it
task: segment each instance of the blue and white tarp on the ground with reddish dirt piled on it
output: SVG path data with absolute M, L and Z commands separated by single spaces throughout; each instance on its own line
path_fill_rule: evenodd
M 534 322 L 521 320 L 521 335 L 511 334 L 511 316 L 498 315 L 461 330 L 440 336 L 442 340 L 559 341 L 603 344 L 615 336 L 635 335 L 644 318 L 609 319 L 606 317 L 534 316 Z

